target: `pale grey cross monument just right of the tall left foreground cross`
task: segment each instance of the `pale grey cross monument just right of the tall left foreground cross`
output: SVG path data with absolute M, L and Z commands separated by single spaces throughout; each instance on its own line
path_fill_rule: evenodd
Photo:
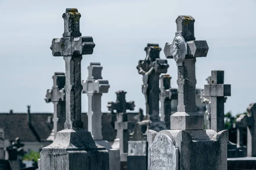
M 108 141 L 102 137 L 102 111 L 101 97 L 102 93 L 108 93 L 108 80 L 103 80 L 101 71 L 102 66 L 99 62 L 91 62 L 87 67 L 89 76 L 86 81 L 82 81 L 82 93 L 88 96 L 88 131 L 92 134 L 96 143 L 105 147 L 109 153 L 109 169 L 120 170 L 119 150 L 112 149 Z

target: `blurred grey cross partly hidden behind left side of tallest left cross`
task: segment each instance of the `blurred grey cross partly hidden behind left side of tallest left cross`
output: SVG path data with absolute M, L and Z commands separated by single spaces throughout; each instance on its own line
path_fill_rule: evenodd
M 53 132 L 55 139 L 57 132 L 64 129 L 64 122 L 66 118 L 66 103 L 65 103 L 65 74 L 62 72 L 55 72 L 52 76 L 53 86 L 46 92 L 45 101 L 52 102 L 54 106 L 53 112 Z

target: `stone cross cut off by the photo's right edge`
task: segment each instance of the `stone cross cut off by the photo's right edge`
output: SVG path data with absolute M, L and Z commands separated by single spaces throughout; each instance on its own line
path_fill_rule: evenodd
M 247 157 L 256 157 L 256 103 L 251 103 L 247 107 L 247 115 L 240 115 L 236 122 L 239 127 L 247 127 Z M 237 130 L 237 144 L 242 145 L 241 128 Z

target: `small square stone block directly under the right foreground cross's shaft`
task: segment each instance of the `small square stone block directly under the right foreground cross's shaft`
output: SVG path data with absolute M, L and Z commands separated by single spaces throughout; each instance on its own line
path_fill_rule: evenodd
M 171 116 L 172 130 L 203 130 L 204 114 L 198 112 L 176 112 Z

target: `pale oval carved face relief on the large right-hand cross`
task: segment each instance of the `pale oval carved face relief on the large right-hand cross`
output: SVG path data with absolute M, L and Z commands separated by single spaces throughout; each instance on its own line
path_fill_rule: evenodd
M 177 63 L 177 66 L 182 66 L 182 62 L 187 54 L 187 44 L 181 35 L 177 35 L 173 42 L 171 48 L 172 56 Z

